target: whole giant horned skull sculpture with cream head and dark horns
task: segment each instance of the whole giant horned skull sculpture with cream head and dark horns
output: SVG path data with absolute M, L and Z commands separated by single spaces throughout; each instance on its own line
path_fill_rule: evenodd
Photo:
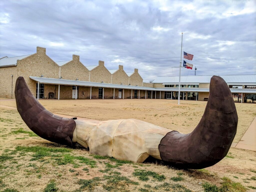
M 213 76 L 204 115 L 195 130 L 182 134 L 136 119 L 93 121 L 62 118 L 47 111 L 23 77 L 15 87 L 17 109 L 29 129 L 59 144 L 78 143 L 90 153 L 143 162 L 148 156 L 182 168 L 201 169 L 228 153 L 237 130 L 237 111 L 226 82 Z

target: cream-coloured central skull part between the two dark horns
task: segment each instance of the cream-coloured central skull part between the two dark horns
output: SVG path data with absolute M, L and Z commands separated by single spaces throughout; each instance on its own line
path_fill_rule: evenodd
M 172 131 L 136 119 L 75 122 L 72 142 L 89 147 L 93 154 L 133 162 L 143 162 L 149 155 L 161 159 L 158 145 Z

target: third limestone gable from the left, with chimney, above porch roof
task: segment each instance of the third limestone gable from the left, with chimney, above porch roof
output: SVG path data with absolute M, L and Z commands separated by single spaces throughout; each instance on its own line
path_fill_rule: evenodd
M 104 66 L 104 61 L 99 61 L 99 66 L 90 72 L 90 81 L 101 83 L 111 83 L 111 73 Z

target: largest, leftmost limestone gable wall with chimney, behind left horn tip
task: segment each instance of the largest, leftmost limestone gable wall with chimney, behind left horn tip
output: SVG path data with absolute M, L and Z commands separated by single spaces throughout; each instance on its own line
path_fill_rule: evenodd
M 59 66 L 46 55 L 46 49 L 37 47 L 37 52 L 22 60 L 17 60 L 17 76 L 23 76 L 30 91 L 36 96 L 36 82 L 29 76 L 59 78 Z M 17 78 L 17 77 L 16 77 Z

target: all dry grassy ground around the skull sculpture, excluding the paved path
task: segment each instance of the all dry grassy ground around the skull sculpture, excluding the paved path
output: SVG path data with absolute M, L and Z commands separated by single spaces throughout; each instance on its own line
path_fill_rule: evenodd
M 177 100 L 159 99 L 39 101 L 54 113 L 98 120 L 134 118 L 183 133 L 196 127 L 206 106 L 201 101 L 181 101 L 178 106 Z M 0 100 L 0 105 L 16 103 Z M 234 142 L 256 115 L 254 104 L 236 107 Z M 38 137 L 16 110 L 0 107 L 0 191 L 255 191 L 255 167 L 256 152 L 238 148 L 230 148 L 219 163 L 201 170 L 92 155 L 79 146 L 69 148 Z

